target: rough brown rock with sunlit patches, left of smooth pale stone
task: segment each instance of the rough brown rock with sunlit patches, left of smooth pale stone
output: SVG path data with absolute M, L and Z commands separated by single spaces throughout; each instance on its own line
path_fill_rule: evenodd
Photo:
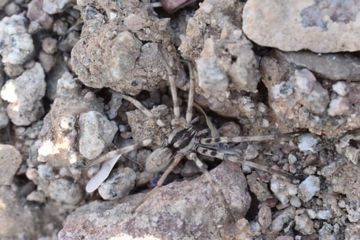
M 88 92 L 80 95 L 80 89 L 72 77 L 63 76 L 59 80 L 58 98 L 53 101 L 50 112 L 45 116 L 40 132 L 41 146 L 38 149 L 38 161 L 49 163 L 53 167 L 69 166 L 81 163 L 77 150 L 75 123 L 85 112 L 102 112 L 103 104 Z

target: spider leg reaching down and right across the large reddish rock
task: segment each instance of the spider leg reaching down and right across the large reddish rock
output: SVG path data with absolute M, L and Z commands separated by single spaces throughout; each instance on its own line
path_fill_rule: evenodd
M 232 221 L 236 222 L 234 215 L 232 215 L 232 213 L 231 213 L 230 206 L 229 206 L 228 202 L 226 202 L 226 198 L 225 198 L 223 191 L 221 191 L 219 184 L 217 184 L 217 182 L 214 180 L 213 176 L 208 172 L 204 163 L 202 163 L 202 161 L 197 157 L 195 152 L 191 152 L 191 153 L 187 154 L 187 158 L 189 158 L 190 160 L 193 160 L 193 162 L 200 169 L 200 171 L 202 171 L 202 173 L 206 177 L 206 180 L 208 180 L 208 182 L 211 184 L 211 187 L 215 190 L 215 192 L 217 194 L 220 195 L 221 200 L 226 208 L 226 211 L 228 211 L 228 213 L 230 214 Z

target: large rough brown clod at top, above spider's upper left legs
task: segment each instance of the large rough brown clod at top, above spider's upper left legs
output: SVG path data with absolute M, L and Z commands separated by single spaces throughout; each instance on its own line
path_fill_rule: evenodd
M 128 94 L 152 91 L 167 86 L 167 73 L 160 60 L 158 44 L 175 74 L 178 86 L 184 85 L 169 19 L 158 19 L 152 7 L 141 1 L 78 1 L 84 28 L 73 47 L 73 71 L 87 86 L 112 88 Z

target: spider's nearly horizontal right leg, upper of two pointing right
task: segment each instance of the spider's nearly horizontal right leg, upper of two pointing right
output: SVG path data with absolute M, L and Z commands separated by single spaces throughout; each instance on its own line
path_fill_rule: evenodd
M 285 134 L 269 134 L 269 135 L 261 135 L 261 136 L 219 136 L 215 138 L 202 138 L 200 139 L 200 143 L 203 145 L 214 145 L 217 143 L 241 143 L 248 141 L 270 141 L 279 138 L 283 138 L 286 136 L 296 136 L 300 134 L 300 132 L 289 132 Z

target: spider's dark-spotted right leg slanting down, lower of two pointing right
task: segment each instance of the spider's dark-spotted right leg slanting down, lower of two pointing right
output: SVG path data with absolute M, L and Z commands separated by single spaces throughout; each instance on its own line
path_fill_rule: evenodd
M 248 165 L 250 167 L 254 167 L 256 169 L 260 169 L 261 171 L 267 171 L 269 173 L 276 173 L 281 176 L 285 176 L 286 178 L 298 178 L 297 176 L 293 176 L 291 173 L 287 173 L 286 171 L 281 171 L 277 169 L 272 169 L 271 167 L 266 167 L 254 162 L 250 162 L 248 160 L 241 160 L 237 155 L 227 155 L 223 152 L 215 151 L 212 149 L 207 149 L 205 147 L 196 147 L 196 152 L 205 156 L 211 156 L 213 158 L 219 158 L 221 160 L 229 160 L 233 163 L 241 163 L 243 165 Z

